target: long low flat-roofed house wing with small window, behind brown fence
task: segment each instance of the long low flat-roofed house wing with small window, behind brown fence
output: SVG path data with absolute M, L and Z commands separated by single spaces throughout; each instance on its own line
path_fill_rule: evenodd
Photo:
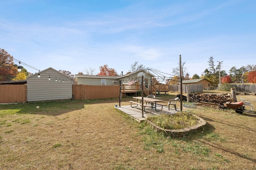
M 111 86 L 118 83 L 119 76 L 96 76 L 76 74 L 75 81 L 77 84 L 96 85 L 96 86 Z

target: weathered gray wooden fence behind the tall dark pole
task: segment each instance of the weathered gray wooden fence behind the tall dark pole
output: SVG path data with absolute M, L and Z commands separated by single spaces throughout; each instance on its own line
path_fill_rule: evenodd
M 190 88 L 190 92 L 202 92 L 203 84 L 182 84 L 182 93 L 187 93 L 187 86 Z M 180 84 L 169 85 L 170 92 L 180 92 Z

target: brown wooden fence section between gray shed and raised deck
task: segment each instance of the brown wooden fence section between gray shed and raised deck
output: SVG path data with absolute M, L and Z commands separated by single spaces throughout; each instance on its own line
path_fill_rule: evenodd
M 119 86 L 73 85 L 74 100 L 118 98 Z

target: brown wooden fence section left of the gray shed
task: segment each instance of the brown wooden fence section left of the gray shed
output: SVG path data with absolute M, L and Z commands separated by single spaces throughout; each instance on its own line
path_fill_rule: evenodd
M 0 85 L 0 103 L 25 103 L 27 102 L 26 84 Z

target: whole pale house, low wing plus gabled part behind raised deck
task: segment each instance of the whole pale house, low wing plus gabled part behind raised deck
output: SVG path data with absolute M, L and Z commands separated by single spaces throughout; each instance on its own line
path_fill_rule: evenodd
M 119 84 L 119 80 L 121 80 L 124 85 L 134 85 L 139 84 L 142 81 L 142 76 L 144 76 L 144 86 L 148 88 L 151 83 L 153 74 L 146 72 L 145 70 L 138 70 L 129 74 L 121 75 L 121 76 L 96 76 L 96 75 L 84 75 L 84 74 L 76 74 L 75 81 L 77 84 L 84 85 L 97 85 L 97 86 L 111 86 Z

